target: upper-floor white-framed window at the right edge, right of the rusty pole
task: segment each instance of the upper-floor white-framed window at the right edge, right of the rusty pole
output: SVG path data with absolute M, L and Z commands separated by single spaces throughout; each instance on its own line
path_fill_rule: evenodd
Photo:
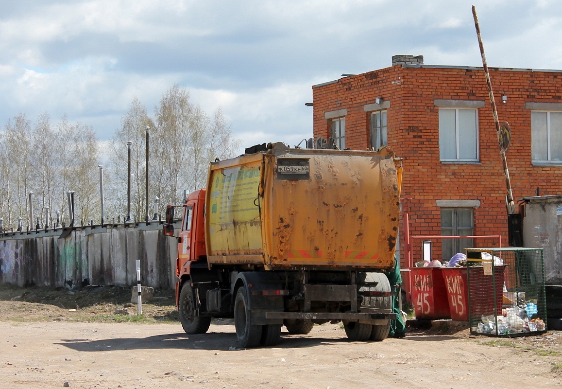
M 562 163 L 562 112 L 531 111 L 533 162 Z

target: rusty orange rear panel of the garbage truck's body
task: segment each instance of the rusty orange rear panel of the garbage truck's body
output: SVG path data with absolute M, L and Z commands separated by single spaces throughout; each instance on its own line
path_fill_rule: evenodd
M 390 153 L 291 149 L 265 157 L 265 171 L 275 172 L 264 183 L 266 265 L 393 266 L 400 185 Z M 309 178 L 280 176 L 278 157 L 285 165 L 308 158 Z

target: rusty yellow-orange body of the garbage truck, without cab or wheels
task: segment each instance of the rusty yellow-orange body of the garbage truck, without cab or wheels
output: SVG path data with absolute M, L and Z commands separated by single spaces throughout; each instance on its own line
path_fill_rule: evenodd
M 211 163 L 209 266 L 383 270 L 394 266 L 400 159 L 379 151 L 289 149 Z

